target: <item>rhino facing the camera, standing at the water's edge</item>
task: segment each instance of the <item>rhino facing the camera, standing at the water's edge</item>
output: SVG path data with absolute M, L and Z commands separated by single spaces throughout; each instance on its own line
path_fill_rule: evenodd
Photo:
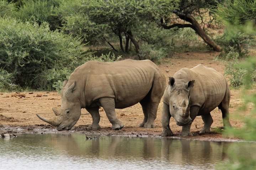
M 196 116 L 202 116 L 204 127 L 200 134 L 210 132 L 213 123 L 210 112 L 216 107 L 222 112 L 224 126 L 229 123 L 230 90 L 225 77 L 213 68 L 199 64 L 192 69 L 182 68 L 169 77 L 163 95 L 162 136 L 172 136 L 171 116 L 182 126 L 182 136 L 192 135 L 190 126 Z

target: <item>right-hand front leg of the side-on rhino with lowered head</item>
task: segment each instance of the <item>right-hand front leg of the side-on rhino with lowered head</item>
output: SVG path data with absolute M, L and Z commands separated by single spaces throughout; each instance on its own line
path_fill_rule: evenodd
M 104 111 L 106 112 L 106 115 L 107 115 L 110 123 L 112 124 L 112 130 L 122 129 L 122 127 L 124 127 L 124 125 L 116 117 L 114 98 L 110 98 L 110 97 L 100 98 L 99 102 L 100 102 L 101 106 L 103 107 Z

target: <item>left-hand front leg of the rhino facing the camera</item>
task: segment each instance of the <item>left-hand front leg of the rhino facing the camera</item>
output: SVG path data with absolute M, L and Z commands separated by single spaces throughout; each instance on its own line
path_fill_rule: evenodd
M 170 129 L 170 109 L 169 105 L 166 103 L 163 103 L 163 110 L 162 110 L 162 126 L 163 126 L 163 131 L 161 136 L 172 136 L 172 131 Z

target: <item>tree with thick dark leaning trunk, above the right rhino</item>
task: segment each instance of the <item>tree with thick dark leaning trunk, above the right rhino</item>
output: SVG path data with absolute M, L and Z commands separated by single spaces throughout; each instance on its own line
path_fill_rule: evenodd
M 164 29 L 192 28 L 195 33 L 215 51 L 221 51 L 221 47 L 211 40 L 204 29 L 205 14 L 209 14 L 208 22 L 211 23 L 215 21 L 215 17 L 213 13 L 210 12 L 210 9 L 216 8 L 220 1 L 221 0 L 145 0 L 147 13 L 144 14 Z M 150 9 L 153 10 L 150 11 Z

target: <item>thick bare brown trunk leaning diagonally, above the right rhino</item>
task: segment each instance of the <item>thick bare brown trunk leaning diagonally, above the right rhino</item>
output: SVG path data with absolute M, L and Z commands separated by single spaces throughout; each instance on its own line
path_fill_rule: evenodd
M 213 48 L 214 51 L 221 51 L 221 47 L 217 44 L 215 44 L 215 42 L 213 40 L 210 39 L 210 37 L 204 32 L 204 30 L 200 27 L 199 23 L 197 22 L 197 20 L 191 16 L 191 15 L 181 15 L 181 14 L 177 14 L 179 18 L 190 22 L 192 24 L 192 26 L 194 27 L 193 29 L 195 30 L 195 32 L 204 40 L 204 42 L 206 44 L 208 44 L 210 47 Z

